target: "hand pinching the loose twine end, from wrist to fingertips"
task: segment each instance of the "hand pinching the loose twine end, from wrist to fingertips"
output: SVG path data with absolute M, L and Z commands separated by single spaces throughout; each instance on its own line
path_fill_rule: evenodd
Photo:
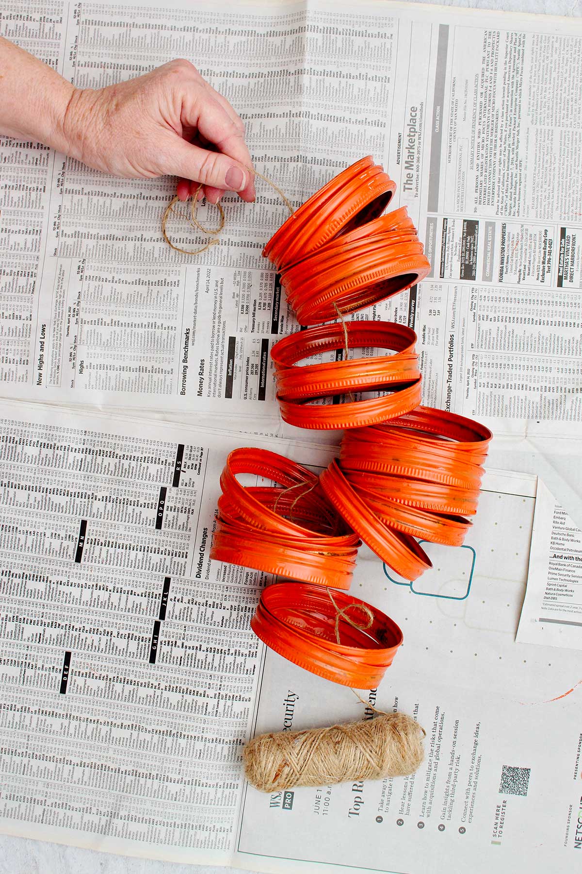
M 243 121 L 187 60 L 118 85 L 75 90 L 63 130 L 67 153 L 95 170 L 180 177 L 181 200 L 201 183 L 200 196 L 213 204 L 224 191 L 255 199 Z

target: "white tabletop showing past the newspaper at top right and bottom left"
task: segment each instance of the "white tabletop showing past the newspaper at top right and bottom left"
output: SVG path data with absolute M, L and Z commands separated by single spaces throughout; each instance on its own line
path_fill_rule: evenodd
M 417 0 L 408 0 L 414 3 Z M 423 0 L 442 6 L 582 17 L 582 0 Z M 240 868 L 154 862 L 0 835 L 0 874 L 244 874 Z

